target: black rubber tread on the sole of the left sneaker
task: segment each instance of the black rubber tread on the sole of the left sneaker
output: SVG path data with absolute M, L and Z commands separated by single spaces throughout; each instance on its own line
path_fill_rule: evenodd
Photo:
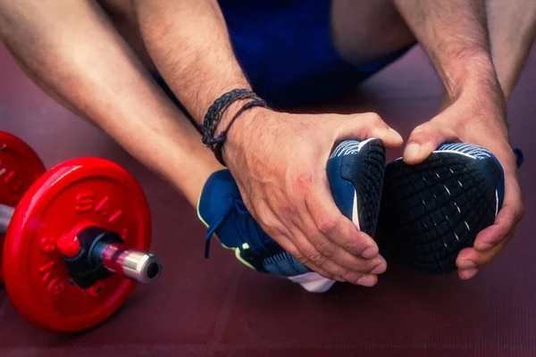
M 344 171 L 345 162 L 341 170 Z M 380 214 L 383 177 L 385 175 L 385 147 L 380 139 L 369 141 L 361 148 L 358 155 L 357 170 L 354 178 L 345 177 L 354 184 L 357 193 L 357 217 L 361 231 L 374 237 L 378 216 Z

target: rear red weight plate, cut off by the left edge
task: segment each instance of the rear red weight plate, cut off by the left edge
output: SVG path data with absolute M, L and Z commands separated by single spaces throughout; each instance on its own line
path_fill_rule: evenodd
M 20 138 L 0 131 L 0 203 L 15 207 L 22 195 L 41 175 L 45 165 L 29 145 Z M 0 235 L 0 284 L 2 273 L 2 247 L 4 235 Z

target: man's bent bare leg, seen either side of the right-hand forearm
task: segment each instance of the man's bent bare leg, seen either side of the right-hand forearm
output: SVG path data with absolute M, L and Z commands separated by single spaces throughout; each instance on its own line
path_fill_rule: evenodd
M 490 42 L 507 100 L 536 37 L 532 0 L 486 0 Z M 331 4 L 332 41 L 356 65 L 374 62 L 415 43 L 392 0 L 338 0 Z

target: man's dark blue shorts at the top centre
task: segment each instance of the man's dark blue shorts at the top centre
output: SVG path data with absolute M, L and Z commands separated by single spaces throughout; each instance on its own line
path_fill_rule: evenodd
M 234 53 L 255 93 L 273 107 L 329 100 L 411 47 L 356 66 L 331 43 L 331 0 L 220 0 Z M 172 95 L 162 79 L 161 85 Z

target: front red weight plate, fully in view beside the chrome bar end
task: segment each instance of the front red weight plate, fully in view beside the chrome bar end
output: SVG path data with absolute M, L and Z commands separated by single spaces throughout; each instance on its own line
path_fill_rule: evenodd
M 81 289 L 56 247 L 84 226 L 115 231 L 131 248 L 147 251 L 151 222 L 147 200 L 130 174 L 113 162 L 63 162 L 30 187 L 13 215 L 4 245 L 5 287 L 15 308 L 40 328 L 77 332 L 117 311 L 136 283 L 114 275 Z

